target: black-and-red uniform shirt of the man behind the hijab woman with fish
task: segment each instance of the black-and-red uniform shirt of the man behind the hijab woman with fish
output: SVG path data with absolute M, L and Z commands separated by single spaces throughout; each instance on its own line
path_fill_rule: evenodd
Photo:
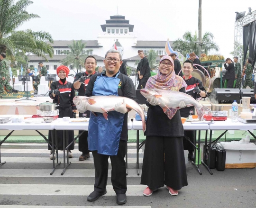
M 194 88 L 196 87 L 196 84 L 198 84 L 198 87 L 200 90 L 202 90 L 206 93 L 206 90 L 204 89 L 201 80 L 199 80 L 195 77 L 192 77 L 192 76 L 189 77 L 189 79 L 187 79 L 187 80 L 185 80 L 184 77 L 183 77 L 183 79 L 186 82 L 186 84 L 188 85 L 186 88 L 186 94 L 193 97 L 193 99 L 197 99 L 197 98 L 201 97 L 198 93 L 194 92 Z M 181 117 L 188 117 L 189 115 L 195 115 L 195 107 L 191 106 L 191 107 L 186 107 L 186 108 L 180 109 L 180 114 L 181 114 Z

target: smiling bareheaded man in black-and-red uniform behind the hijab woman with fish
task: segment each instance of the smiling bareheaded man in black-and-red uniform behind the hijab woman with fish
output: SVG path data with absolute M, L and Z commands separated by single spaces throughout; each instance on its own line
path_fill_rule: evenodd
M 204 89 L 202 82 L 192 77 L 191 73 L 193 71 L 193 62 L 189 59 L 184 61 L 183 63 L 183 79 L 187 84 L 186 93 L 193 97 L 194 99 L 197 98 L 206 98 L 206 90 Z M 185 107 L 185 103 L 183 103 L 183 107 Z M 195 115 L 195 107 L 186 107 L 180 109 L 181 117 L 188 117 L 189 115 Z M 184 131 L 184 137 L 189 137 L 190 141 L 195 145 L 196 144 L 196 138 L 195 138 L 196 131 Z M 188 159 L 194 161 L 194 146 L 190 144 L 187 139 L 183 138 L 183 147 L 184 149 L 189 151 Z

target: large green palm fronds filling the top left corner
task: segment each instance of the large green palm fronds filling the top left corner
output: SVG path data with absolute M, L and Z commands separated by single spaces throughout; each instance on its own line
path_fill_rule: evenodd
M 26 11 L 27 6 L 32 3 L 30 0 L 18 0 L 16 3 L 14 0 L 0 0 L 0 53 L 6 53 L 14 58 L 14 51 L 18 49 L 23 53 L 32 53 L 45 59 L 46 54 L 53 56 L 54 50 L 50 45 L 53 38 L 48 32 L 33 32 L 30 29 L 16 31 L 23 23 L 40 18 Z

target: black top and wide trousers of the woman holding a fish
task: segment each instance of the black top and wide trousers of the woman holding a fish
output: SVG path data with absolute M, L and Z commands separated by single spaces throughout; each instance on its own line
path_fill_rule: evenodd
M 185 88 L 180 91 L 185 92 Z M 164 185 L 180 190 L 188 185 L 180 111 L 169 119 L 160 106 L 152 106 L 147 101 L 146 105 L 149 108 L 141 184 L 151 190 Z

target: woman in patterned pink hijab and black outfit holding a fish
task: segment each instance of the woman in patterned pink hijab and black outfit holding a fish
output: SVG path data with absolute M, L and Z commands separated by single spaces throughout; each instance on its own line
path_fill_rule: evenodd
M 146 89 L 165 89 L 185 92 L 186 83 L 175 75 L 173 59 L 165 55 L 160 60 L 157 75 L 146 82 Z M 143 191 L 150 196 L 163 187 L 171 195 L 187 186 L 187 173 L 183 151 L 183 125 L 180 111 L 163 109 L 157 105 L 158 98 L 146 100 L 149 107 L 146 119 L 146 145 L 143 159 L 141 184 L 148 187 Z

